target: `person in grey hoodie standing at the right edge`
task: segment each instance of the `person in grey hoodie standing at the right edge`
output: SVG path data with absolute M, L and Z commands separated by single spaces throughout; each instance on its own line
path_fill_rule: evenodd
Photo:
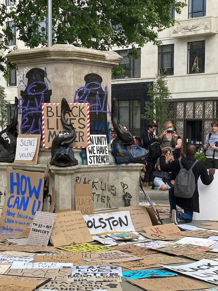
M 212 132 L 207 134 L 204 141 L 206 167 L 218 169 L 218 120 L 212 121 L 211 127 Z

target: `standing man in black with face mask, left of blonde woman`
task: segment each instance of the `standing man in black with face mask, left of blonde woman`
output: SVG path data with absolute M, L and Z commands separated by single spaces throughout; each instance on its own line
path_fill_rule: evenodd
M 155 141 L 157 141 L 157 139 L 155 138 L 155 135 L 153 134 L 153 132 L 155 132 L 157 128 L 157 125 L 155 122 L 151 121 L 148 124 L 148 130 L 147 132 L 143 133 L 142 139 L 143 139 L 143 145 L 144 148 L 146 150 L 149 149 L 149 145 L 151 145 L 152 143 L 154 143 Z M 144 174 L 144 180 L 142 185 L 147 187 L 147 186 L 152 186 L 152 182 L 153 182 L 153 173 L 154 173 L 154 167 L 156 164 L 156 160 L 150 160 L 148 159 L 147 164 L 146 164 L 146 172 Z

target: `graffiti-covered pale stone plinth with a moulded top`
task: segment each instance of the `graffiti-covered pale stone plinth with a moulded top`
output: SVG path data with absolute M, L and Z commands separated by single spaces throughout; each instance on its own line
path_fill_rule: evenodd
M 90 103 L 90 133 L 108 137 L 109 165 L 87 166 L 86 150 L 75 149 L 78 166 L 51 166 L 48 174 L 49 194 L 56 190 L 56 210 L 75 209 L 76 183 L 92 184 L 94 210 L 116 210 L 124 206 L 123 196 L 132 196 L 131 205 L 139 204 L 140 164 L 117 165 L 111 155 L 111 70 L 121 61 L 115 52 L 53 45 L 52 47 L 15 50 L 8 55 L 18 66 L 19 132 L 42 133 L 41 103 Z M 82 93 L 81 93 L 82 92 Z M 91 95 L 92 94 L 92 95 Z M 92 96 L 92 98 L 90 98 Z M 58 132 L 59 133 L 59 132 Z M 0 191 L 6 194 L 6 168 L 43 172 L 51 160 L 51 150 L 40 146 L 37 165 L 0 163 Z M 1 194 L 1 193 L 0 193 Z M 44 210 L 49 208 L 44 197 Z M 0 201 L 0 207 L 3 203 Z

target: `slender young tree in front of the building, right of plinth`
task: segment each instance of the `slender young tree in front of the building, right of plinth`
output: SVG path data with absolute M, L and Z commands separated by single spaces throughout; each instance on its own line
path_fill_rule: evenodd
M 156 75 L 156 78 L 157 80 L 153 85 L 147 85 L 151 101 L 145 102 L 144 114 L 141 118 L 149 121 L 156 120 L 158 132 L 161 133 L 164 130 L 164 123 L 167 121 L 167 99 L 171 98 L 172 95 L 164 72 L 160 73 L 159 76 Z

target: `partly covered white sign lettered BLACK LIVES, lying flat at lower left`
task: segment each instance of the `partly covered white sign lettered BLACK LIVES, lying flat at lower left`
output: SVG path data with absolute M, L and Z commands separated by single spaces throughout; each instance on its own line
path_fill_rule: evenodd
M 72 268 L 72 263 L 51 263 L 51 262 L 40 262 L 40 263 L 24 263 L 24 262 L 13 262 L 11 269 L 62 269 L 63 267 Z

